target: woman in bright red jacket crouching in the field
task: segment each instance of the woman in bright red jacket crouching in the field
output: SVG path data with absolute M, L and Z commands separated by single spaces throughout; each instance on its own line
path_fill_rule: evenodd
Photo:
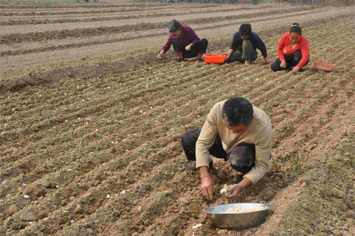
M 310 60 L 310 48 L 307 38 L 302 36 L 298 23 L 293 23 L 290 32 L 285 33 L 278 42 L 279 58 L 271 65 L 273 71 L 290 70 L 294 73 L 302 71 L 302 67 Z

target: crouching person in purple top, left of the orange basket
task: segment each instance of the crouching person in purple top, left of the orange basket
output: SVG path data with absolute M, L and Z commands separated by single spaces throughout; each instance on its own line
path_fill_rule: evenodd
M 206 53 L 208 41 L 206 38 L 200 40 L 195 31 L 190 26 L 182 26 L 179 21 L 170 21 L 169 25 L 170 36 L 163 48 L 158 54 L 158 59 L 163 58 L 170 45 L 173 44 L 176 55 L 178 55 L 178 62 L 182 62 L 184 58 L 195 58 L 199 61 L 204 61 L 202 55 Z

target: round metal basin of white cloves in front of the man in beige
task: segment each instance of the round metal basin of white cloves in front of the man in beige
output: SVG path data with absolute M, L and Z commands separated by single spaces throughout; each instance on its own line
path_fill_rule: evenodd
M 240 213 L 227 213 L 229 209 L 239 209 Z M 234 203 L 215 205 L 204 209 L 213 224 L 226 229 L 245 229 L 264 222 L 271 205 L 264 203 Z

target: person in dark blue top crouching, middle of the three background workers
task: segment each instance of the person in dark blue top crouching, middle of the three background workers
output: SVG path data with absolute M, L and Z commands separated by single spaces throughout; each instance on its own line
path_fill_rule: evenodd
M 239 27 L 239 31 L 234 33 L 233 41 L 227 52 L 226 63 L 239 61 L 244 65 L 250 65 L 258 57 L 256 48 L 261 50 L 265 63 L 269 63 L 265 43 L 258 34 L 251 31 L 250 23 L 244 23 Z

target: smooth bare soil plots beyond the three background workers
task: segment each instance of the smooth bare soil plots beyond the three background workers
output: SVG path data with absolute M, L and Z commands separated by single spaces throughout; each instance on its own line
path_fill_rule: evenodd
M 70 5 L 71 6 L 71 5 Z M 147 47 L 158 47 L 166 40 L 166 27 L 171 18 L 179 18 L 195 28 L 202 37 L 232 35 L 240 23 L 249 21 L 254 28 L 275 28 L 293 22 L 307 22 L 318 18 L 354 13 L 353 7 L 288 6 L 285 4 L 236 5 L 172 5 L 176 11 L 167 12 L 167 5 L 154 6 L 146 15 L 141 12 L 120 15 L 80 18 L 0 17 L 0 73 L 38 67 L 48 63 L 68 62 L 84 58 L 119 56 Z M 199 11 L 199 6 L 202 7 Z M 57 9 L 57 8 L 55 8 Z M 75 9 L 75 8 L 72 8 Z M 119 9 L 116 7 L 116 9 Z M 115 11 L 116 11 L 115 9 Z M 162 12 L 162 9 L 164 12 Z M 8 9 L 6 9 L 8 10 Z M 53 9 L 35 9 L 40 14 Z M 91 9 L 91 11 L 110 9 Z M 65 13 L 67 10 L 58 11 Z M 69 12 L 71 12 L 70 10 Z M 86 12 L 89 13 L 90 9 Z M 8 14 L 9 11 L 0 11 Z M 179 14 L 181 14 L 179 16 Z M 92 15 L 92 14 L 91 14 Z M 43 16 L 40 16 L 43 17 Z M 280 21 L 283 18 L 283 21 Z M 58 22 L 58 20 L 61 22 Z M 11 23 L 12 22 L 12 23 Z M 144 43 L 141 43 L 144 38 Z

